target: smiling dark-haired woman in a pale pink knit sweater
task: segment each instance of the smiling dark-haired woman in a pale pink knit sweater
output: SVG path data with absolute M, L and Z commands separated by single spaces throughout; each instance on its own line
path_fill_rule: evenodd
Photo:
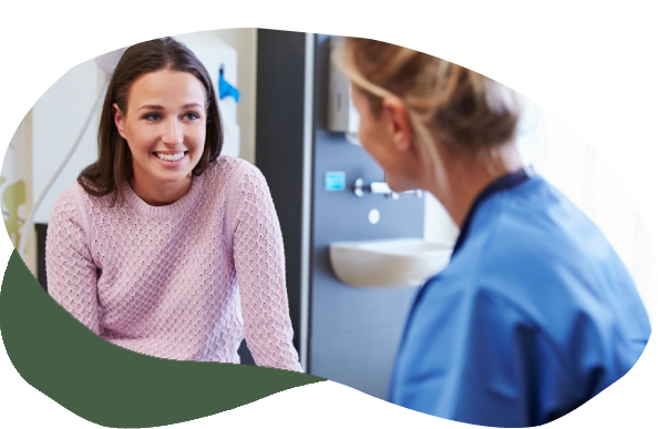
M 128 48 L 110 81 L 99 161 L 60 195 L 48 288 L 91 330 L 160 358 L 302 371 L 278 217 L 260 171 L 220 155 L 216 92 L 171 38 Z

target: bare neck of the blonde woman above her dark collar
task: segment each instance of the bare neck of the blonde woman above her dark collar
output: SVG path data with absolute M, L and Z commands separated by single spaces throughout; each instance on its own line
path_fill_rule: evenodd
M 514 142 L 500 146 L 496 154 L 489 163 L 471 155 L 443 155 L 446 159 L 445 175 L 450 195 L 444 195 L 436 183 L 429 191 L 441 202 L 460 229 L 473 203 L 490 184 L 523 167 Z

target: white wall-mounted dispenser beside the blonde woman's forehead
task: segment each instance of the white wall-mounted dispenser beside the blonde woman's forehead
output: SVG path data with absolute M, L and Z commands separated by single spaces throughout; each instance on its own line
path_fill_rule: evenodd
M 338 48 L 340 40 L 336 37 L 329 41 L 330 54 Z M 348 142 L 360 145 L 357 140 L 359 132 L 359 111 L 351 98 L 351 84 L 348 78 L 331 63 L 329 65 L 329 96 L 327 109 L 327 130 L 346 133 Z

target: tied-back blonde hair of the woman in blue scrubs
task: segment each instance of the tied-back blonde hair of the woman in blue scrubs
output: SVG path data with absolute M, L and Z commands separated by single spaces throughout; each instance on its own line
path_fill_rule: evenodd
M 491 168 L 496 149 L 514 136 L 516 100 L 473 70 L 401 44 L 356 35 L 342 40 L 332 61 L 363 91 L 376 118 L 383 98 L 402 100 L 419 155 L 440 185 L 446 184 L 446 177 L 438 145 L 475 155 Z

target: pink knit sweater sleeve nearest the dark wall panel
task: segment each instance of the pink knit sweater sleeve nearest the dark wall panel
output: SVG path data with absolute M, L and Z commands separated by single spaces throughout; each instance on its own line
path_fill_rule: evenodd
M 249 350 L 258 366 L 304 372 L 292 346 L 284 241 L 269 188 L 249 165 L 235 192 L 234 261 Z

